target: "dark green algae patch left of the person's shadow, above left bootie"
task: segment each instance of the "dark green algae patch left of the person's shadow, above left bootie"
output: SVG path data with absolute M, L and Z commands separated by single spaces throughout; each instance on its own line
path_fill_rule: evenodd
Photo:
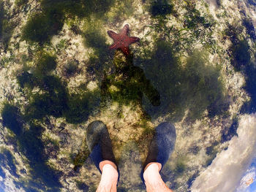
M 66 118 L 68 123 L 81 123 L 87 120 L 90 113 L 99 105 L 99 91 L 86 91 L 81 88 L 77 93 L 68 93 L 66 82 L 50 75 L 56 68 L 55 57 L 47 53 L 39 53 L 36 67 L 32 73 L 27 71 L 18 75 L 21 88 L 39 88 L 30 93 L 30 103 L 25 109 L 26 120 L 42 120 L 47 115 Z

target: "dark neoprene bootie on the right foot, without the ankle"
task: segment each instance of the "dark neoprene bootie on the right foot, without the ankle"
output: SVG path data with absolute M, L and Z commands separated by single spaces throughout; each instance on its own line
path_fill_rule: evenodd
M 145 183 L 143 172 L 145 171 L 146 166 L 151 162 L 157 162 L 162 164 L 163 167 L 173 153 L 175 143 L 176 128 L 170 122 L 160 123 L 159 126 L 155 128 L 154 137 L 148 147 L 148 156 L 143 164 L 143 169 L 140 172 L 140 177 L 141 180 L 143 180 L 143 183 Z M 161 172 L 161 170 L 159 172 Z

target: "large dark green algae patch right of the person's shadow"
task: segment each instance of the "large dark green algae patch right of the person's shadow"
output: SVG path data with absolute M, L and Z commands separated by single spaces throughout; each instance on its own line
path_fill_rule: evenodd
M 187 58 L 187 64 L 181 66 L 172 45 L 159 40 L 151 59 L 138 58 L 135 64 L 144 70 L 146 78 L 160 93 L 159 107 L 143 100 L 143 107 L 153 118 L 170 114 L 170 119 L 178 120 L 189 110 L 188 118 L 195 120 L 205 110 L 209 117 L 214 117 L 228 108 L 219 69 L 208 65 L 206 53 L 195 50 Z

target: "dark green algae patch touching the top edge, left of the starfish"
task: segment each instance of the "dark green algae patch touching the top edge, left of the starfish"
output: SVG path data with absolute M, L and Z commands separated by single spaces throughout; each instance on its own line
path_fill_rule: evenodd
M 42 12 L 31 15 L 23 28 L 23 39 L 42 45 L 59 33 L 65 19 L 85 18 L 96 12 L 97 17 L 101 17 L 112 3 L 113 0 L 42 0 Z

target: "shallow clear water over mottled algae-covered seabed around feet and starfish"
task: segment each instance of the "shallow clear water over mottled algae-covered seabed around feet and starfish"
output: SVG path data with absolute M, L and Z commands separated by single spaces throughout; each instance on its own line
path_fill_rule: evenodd
M 85 139 L 94 120 L 108 127 L 118 191 L 146 191 L 140 169 L 154 128 L 174 123 L 162 179 L 189 191 L 237 136 L 241 115 L 255 112 L 255 31 L 241 15 L 250 7 L 236 1 L 0 4 L 3 191 L 95 191 Z M 107 31 L 126 23 L 140 38 L 130 55 L 108 49 Z

